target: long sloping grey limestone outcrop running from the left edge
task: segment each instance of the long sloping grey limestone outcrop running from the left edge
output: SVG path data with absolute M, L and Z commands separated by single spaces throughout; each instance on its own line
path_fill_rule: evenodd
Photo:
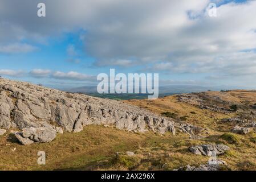
M 0 128 L 17 128 L 23 130 L 22 136 L 31 134 L 25 138 L 48 142 L 52 138 L 38 137 L 48 134 L 43 128 L 55 130 L 52 133 L 79 132 L 87 125 L 112 125 L 126 131 L 161 134 L 168 131 L 175 134 L 176 127 L 186 133 L 193 133 L 194 129 L 193 125 L 176 123 L 172 118 L 121 101 L 0 80 Z

